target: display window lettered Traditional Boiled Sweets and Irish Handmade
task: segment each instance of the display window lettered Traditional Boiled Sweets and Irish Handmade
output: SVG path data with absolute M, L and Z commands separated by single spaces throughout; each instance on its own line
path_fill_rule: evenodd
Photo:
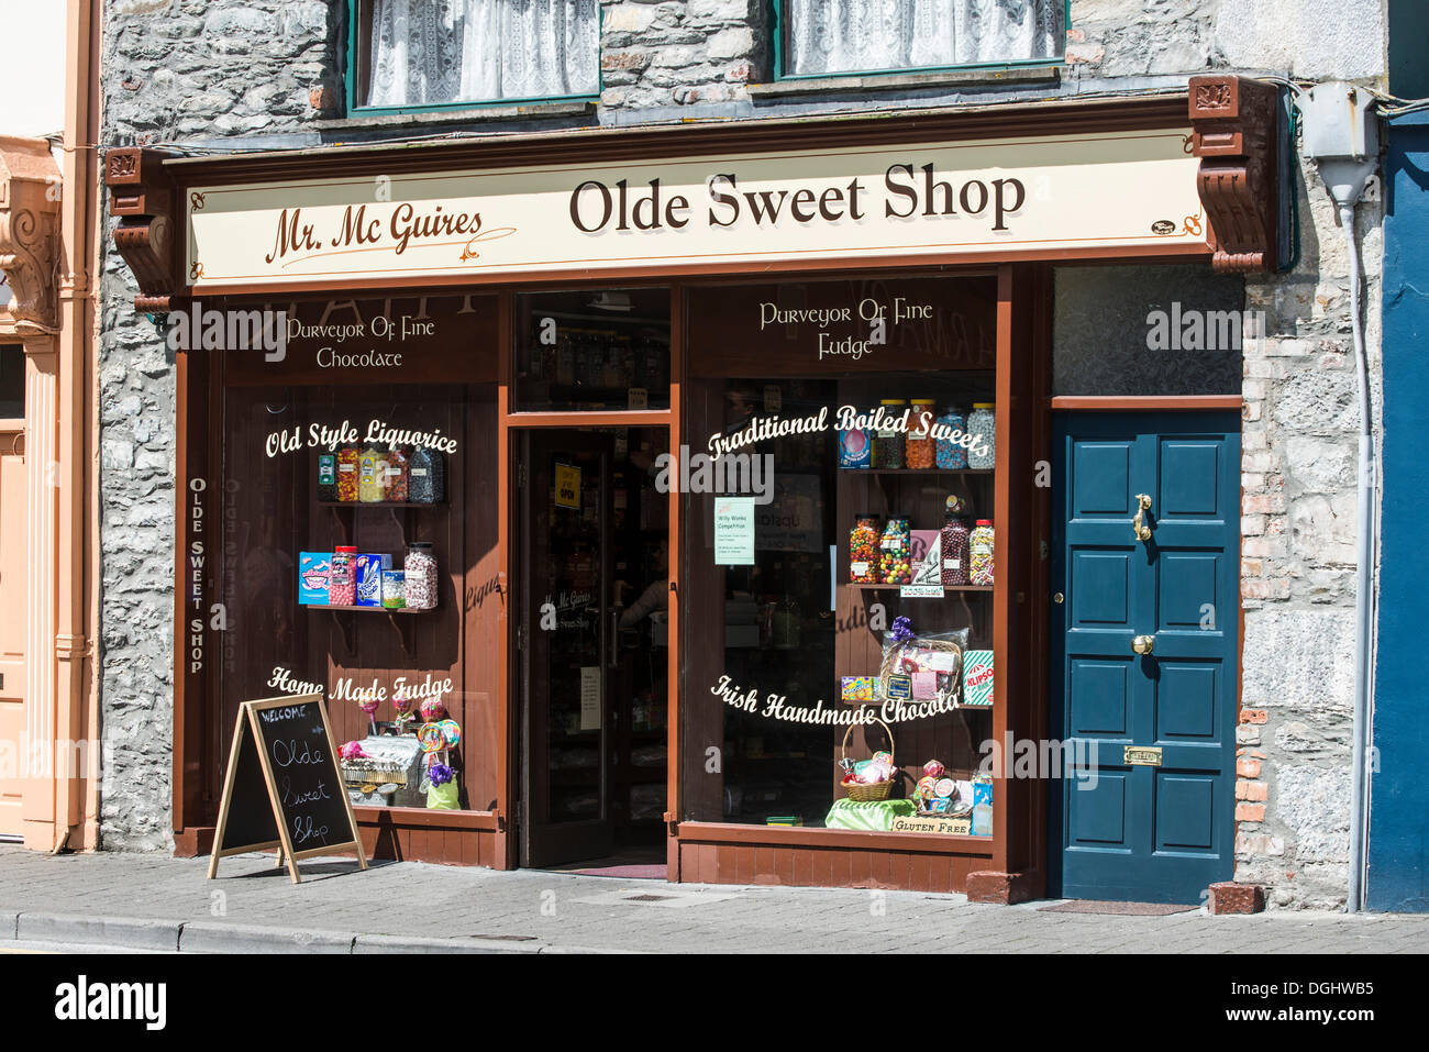
M 689 296 L 682 818 L 990 835 L 993 284 Z

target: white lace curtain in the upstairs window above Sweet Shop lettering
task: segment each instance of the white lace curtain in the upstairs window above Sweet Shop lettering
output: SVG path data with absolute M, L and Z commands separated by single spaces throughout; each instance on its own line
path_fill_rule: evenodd
M 785 71 L 1056 59 L 1062 0 L 785 0 Z

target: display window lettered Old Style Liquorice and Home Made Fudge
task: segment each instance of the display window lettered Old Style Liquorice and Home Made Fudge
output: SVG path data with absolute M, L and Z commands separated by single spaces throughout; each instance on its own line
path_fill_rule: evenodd
M 420 382 L 479 327 L 470 302 L 447 299 L 406 307 L 436 336 L 410 340 L 387 376 L 369 364 L 286 384 L 259 382 L 256 363 L 230 370 L 203 503 L 221 516 L 207 523 L 216 605 L 193 615 L 220 629 L 214 769 L 240 702 L 317 689 L 354 805 L 489 810 L 499 796 L 496 384 L 470 366 L 447 372 L 472 382 Z M 394 310 L 364 306 L 342 317 L 344 356 L 367 354 L 384 332 L 372 319 Z M 333 322 L 324 309 L 300 317 Z M 294 376 L 332 360 L 333 332 L 289 346 Z

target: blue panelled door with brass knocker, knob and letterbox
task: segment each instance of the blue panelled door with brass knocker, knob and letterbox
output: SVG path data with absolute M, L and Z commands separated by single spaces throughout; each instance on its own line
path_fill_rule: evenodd
M 1235 865 L 1240 417 L 1062 413 L 1055 449 L 1053 893 L 1196 903 Z

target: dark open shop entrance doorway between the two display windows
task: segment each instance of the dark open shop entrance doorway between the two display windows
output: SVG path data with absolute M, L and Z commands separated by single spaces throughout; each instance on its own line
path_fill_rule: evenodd
M 666 450 L 664 427 L 517 442 L 524 866 L 664 862 Z

